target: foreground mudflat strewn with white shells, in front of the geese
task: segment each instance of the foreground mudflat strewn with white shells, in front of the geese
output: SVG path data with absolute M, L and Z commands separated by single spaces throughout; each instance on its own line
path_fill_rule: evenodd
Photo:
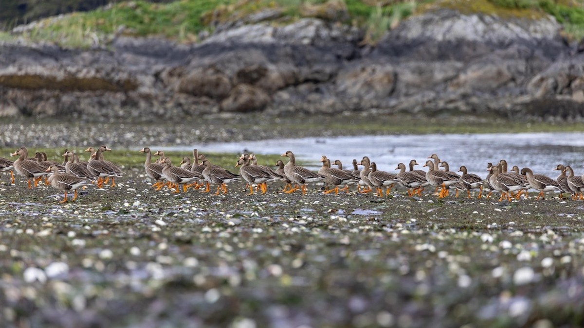
M 584 324 L 579 201 L 171 194 L 133 168 L 61 205 L 6 181 L 6 327 Z

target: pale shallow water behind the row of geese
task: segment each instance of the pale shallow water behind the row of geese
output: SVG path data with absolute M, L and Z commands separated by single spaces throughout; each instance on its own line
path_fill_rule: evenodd
M 357 137 L 268 139 L 261 141 L 218 142 L 192 147 L 160 147 L 164 150 L 192 152 L 253 152 L 256 154 L 294 152 L 305 166 L 317 169 L 322 155 L 340 159 L 343 168 L 351 168 L 354 158 L 369 156 L 380 170 L 394 172 L 399 162 L 416 159 L 420 166 L 436 153 L 446 160 L 450 170 L 466 165 L 469 172 L 486 176 L 486 163 L 506 159 L 509 169 L 529 167 L 535 173 L 555 177 L 556 165 L 571 165 L 576 175 L 584 171 L 584 133 L 542 132 L 519 134 L 427 134 L 376 135 Z M 157 148 L 158 149 L 158 148 Z M 416 167 L 418 168 L 418 167 Z

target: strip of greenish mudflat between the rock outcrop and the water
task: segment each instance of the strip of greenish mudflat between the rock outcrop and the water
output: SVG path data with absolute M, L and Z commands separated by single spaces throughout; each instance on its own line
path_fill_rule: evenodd
M 128 123 L 120 120 L 64 121 L 57 118 L 2 118 L 0 147 L 79 148 L 106 144 L 114 151 L 140 150 L 143 146 L 193 146 L 229 142 L 341 135 L 571 132 L 584 123 L 509 120 L 463 114 L 381 114 L 270 116 L 269 114 L 217 114 L 186 117 L 182 121 L 158 120 Z M 81 149 L 83 148 L 83 149 Z M 13 151 L 13 150 L 12 150 Z M 61 150 L 59 150 L 61 151 Z M 283 149 L 285 151 L 285 149 Z M 59 154 L 60 155 L 60 154 Z M 2 156 L 2 155 L 0 155 Z

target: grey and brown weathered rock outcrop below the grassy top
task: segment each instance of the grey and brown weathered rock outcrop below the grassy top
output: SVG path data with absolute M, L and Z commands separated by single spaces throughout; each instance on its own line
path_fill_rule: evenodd
M 198 44 L 120 37 L 97 50 L 0 45 L 0 115 L 154 120 L 218 112 L 584 117 L 584 53 L 554 19 L 440 9 L 376 47 L 302 19 L 220 26 Z

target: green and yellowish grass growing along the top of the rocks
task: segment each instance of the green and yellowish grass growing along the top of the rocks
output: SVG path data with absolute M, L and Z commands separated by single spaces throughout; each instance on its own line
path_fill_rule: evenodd
M 362 0 L 338 1 L 336 8 L 345 8 L 349 15 L 342 23 L 360 26 L 366 31 L 363 44 L 376 44 L 385 32 L 402 20 L 436 8 L 503 18 L 540 19 L 548 14 L 564 25 L 564 34 L 569 39 L 578 40 L 584 36 L 583 0 L 399 0 L 385 6 L 370 5 L 371 2 Z M 107 44 L 120 33 L 196 42 L 198 33 L 213 30 L 217 22 L 235 21 L 266 9 L 280 12 L 279 18 L 272 22 L 274 25 L 292 23 L 307 16 L 326 19 L 328 6 L 330 3 L 324 0 L 180 0 L 168 4 L 137 0 L 118 2 L 91 12 L 71 13 L 60 19 L 43 19 L 23 37 L 82 48 Z M 0 40 L 10 37 L 0 34 Z

